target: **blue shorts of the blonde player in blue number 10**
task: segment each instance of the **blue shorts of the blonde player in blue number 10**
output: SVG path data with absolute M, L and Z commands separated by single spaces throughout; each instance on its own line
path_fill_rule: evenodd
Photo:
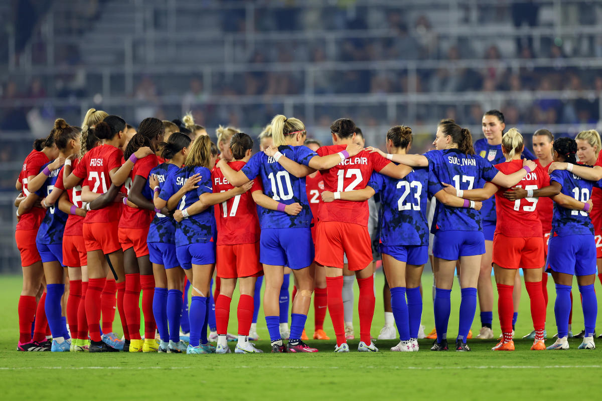
M 314 262 L 311 228 L 263 228 L 259 237 L 259 262 L 303 269 Z

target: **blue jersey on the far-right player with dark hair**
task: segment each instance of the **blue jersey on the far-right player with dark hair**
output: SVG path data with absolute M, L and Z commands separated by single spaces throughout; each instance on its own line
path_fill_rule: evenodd
M 590 167 L 590 166 L 586 166 Z M 592 195 L 592 188 L 600 188 L 601 182 L 583 179 L 570 171 L 554 170 L 550 174 L 550 183 L 556 181 L 562 185 L 561 194 L 578 201 L 586 202 Z M 588 213 L 583 210 L 571 210 L 554 202 L 551 236 L 594 234 L 594 226 Z

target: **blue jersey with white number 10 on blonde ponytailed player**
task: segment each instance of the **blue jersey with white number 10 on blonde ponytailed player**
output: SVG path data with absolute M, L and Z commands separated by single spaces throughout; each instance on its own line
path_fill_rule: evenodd
M 287 158 L 304 165 L 308 165 L 311 158 L 318 155 L 306 146 L 282 145 L 278 150 Z M 311 225 L 312 214 L 305 190 L 305 177 L 293 176 L 274 158 L 263 152 L 255 153 L 241 171 L 249 180 L 261 176 L 264 194 L 273 200 L 284 204 L 299 203 L 303 207 L 296 216 L 258 207 L 261 228 L 296 228 Z

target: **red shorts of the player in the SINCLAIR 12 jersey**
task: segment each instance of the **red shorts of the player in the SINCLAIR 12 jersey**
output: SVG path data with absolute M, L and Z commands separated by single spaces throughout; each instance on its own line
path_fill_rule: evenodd
M 368 227 L 340 221 L 320 221 L 315 230 L 315 262 L 343 269 L 347 255 L 349 270 L 358 271 L 372 264 L 372 245 Z

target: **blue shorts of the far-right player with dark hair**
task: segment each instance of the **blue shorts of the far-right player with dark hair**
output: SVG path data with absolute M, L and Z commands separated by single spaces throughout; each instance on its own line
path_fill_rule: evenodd
M 550 237 L 548 260 L 545 265 L 558 273 L 576 276 L 596 274 L 596 242 L 594 236 Z

